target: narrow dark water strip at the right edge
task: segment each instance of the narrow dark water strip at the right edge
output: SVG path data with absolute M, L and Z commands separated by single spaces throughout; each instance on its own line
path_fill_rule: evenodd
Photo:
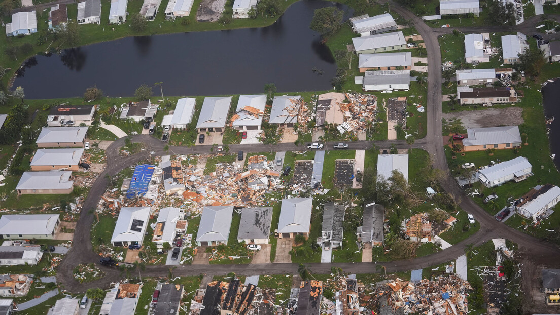
M 560 79 L 548 82 L 541 91 L 543 93 L 544 115 L 547 117 L 554 116 L 554 121 L 548 125 L 550 129 L 548 139 L 550 152 L 556 154 L 554 164 L 560 170 Z

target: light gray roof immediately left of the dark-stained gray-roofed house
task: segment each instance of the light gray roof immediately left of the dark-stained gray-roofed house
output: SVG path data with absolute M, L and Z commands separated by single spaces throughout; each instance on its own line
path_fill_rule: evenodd
M 198 226 L 197 242 L 227 241 L 233 214 L 233 206 L 205 206 Z

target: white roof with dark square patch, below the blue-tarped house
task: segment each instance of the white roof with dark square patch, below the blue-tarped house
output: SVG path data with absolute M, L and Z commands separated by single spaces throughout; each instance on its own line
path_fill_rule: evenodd
M 111 242 L 142 242 L 149 219 L 149 206 L 120 208 Z

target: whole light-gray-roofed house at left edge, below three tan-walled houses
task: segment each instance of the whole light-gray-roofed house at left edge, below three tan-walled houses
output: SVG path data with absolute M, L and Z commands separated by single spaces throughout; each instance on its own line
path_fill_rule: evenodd
M 0 217 L 0 238 L 54 239 L 60 214 L 4 214 Z

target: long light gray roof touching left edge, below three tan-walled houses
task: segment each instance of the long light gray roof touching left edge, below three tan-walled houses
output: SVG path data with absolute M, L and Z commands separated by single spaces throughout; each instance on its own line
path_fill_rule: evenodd
M 0 234 L 50 234 L 59 214 L 4 214 L 0 217 Z

